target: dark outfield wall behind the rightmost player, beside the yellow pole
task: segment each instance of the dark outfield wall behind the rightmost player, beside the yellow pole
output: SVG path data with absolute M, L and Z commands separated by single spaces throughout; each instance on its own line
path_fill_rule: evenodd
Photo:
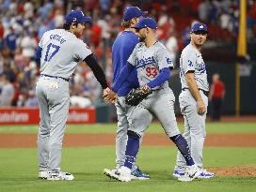
M 206 68 L 209 83 L 212 82 L 214 73 L 220 75 L 220 79 L 226 85 L 226 96 L 223 101 L 222 113 L 233 115 L 235 113 L 235 63 L 207 62 Z M 172 72 L 169 81 L 175 97 L 175 113 L 180 114 L 179 95 L 182 91 L 180 69 Z M 256 64 L 249 63 L 240 65 L 240 114 L 256 114 Z M 210 113 L 210 108 L 208 109 Z

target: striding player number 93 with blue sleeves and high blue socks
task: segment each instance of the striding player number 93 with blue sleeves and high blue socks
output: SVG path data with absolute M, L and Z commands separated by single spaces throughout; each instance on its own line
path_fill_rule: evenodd
M 112 90 L 118 93 L 122 83 L 126 81 L 132 69 L 136 67 L 140 89 L 152 90 L 152 94 L 142 100 L 128 117 L 125 162 L 113 177 L 122 182 L 129 182 L 133 179 L 131 169 L 136 160 L 139 138 L 144 135 L 147 127 L 151 124 L 152 114 L 154 114 L 159 119 L 168 138 L 177 145 L 184 155 L 187 170 L 186 178 L 181 181 L 192 181 L 200 172 L 190 155 L 187 142 L 180 134 L 177 126 L 174 114 L 175 97 L 168 86 L 170 69 L 173 67 L 170 54 L 166 47 L 155 39 L 157 25 L 152 18 L 140 19 L 135 28 L 142 42 L 136 45 Z M 109 96 L 111 97 L 111 92 L 109 92 Z

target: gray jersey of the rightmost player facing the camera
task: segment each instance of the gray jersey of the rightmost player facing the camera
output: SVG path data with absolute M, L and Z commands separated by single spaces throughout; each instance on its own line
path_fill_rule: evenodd
M 184 74 L 187 71 L 195 71 L 195 80 L 199 89 L 209 91 L 209 84 L 207 81 L 207 73 L 204 61 L 201 57 L 201 53 L 194 48 L 191 44 L 188 44 L 182 52 L 180 59 L 180 77 L 182 82 L 182 88 L 188 88 Z

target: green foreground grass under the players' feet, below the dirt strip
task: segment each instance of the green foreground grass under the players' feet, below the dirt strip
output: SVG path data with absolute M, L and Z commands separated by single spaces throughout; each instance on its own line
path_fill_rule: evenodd
M 237 154 L 237 150 L 240 151 Z M 66 148 L 62 169 L 71 171 L 73 181 L 42 181 L 37 179 L 36 149 L 0 150 L 1 192 L 80 192 L 80 191 L 255 191 L 255 177 L 216 177 L 181 183 L 171 177 L 175 161 L 174 147 L 142 147 L 137 164 L 152 176 L 151 181 L 120 183 L 104 176 L 104 168 L 114 168 L 114 147 Z M 235 156 L 235 158 L 234 158 Z M 255 164 L 255 148 L 205 148 L 206 167 Z

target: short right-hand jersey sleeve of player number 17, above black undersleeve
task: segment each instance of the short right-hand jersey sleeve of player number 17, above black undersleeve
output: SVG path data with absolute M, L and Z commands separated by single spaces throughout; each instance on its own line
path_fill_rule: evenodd
M 92 52 L 88 49 L 88 45 L 84 43 L 82 40 L 78 40 L 74 44 L 74 58 L 83 61 L 85 58 L 88 57 Z

